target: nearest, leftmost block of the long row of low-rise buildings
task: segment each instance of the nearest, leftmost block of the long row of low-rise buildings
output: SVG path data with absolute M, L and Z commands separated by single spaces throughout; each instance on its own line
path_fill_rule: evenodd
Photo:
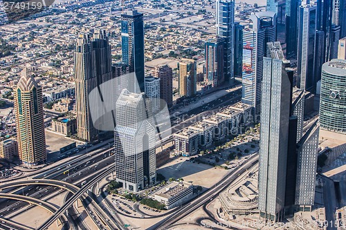
M 189 157 L 198 153 L 199 132 L 184 128 L 174 133 L 175 153 Z

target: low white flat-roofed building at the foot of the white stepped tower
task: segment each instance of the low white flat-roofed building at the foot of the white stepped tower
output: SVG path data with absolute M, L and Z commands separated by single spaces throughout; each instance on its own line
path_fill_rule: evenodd
M 149 195 L 149 198 L 165 204 L 166 209 L 173 209 L 190 200 L 193 195 L 193 187 L 193 184 L 189 182 L 174 181 Z

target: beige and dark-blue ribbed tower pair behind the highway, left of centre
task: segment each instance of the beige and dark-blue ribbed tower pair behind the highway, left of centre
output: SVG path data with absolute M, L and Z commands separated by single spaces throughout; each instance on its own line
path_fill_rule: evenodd
M 80 35 L 74 52 L 74 62 L 78 137 L 90 142 L 95 139 L 99 130 L 107 130 L 103 129 L 102 125 L 109 124 L 105 122 L 107 117 L 97 121 L 92 119 L 91 109 L 98 108 L 98 102 L 89 99 L 91 90 L 113 77 L 111 46 L 106 32 L 104 30 L 95 32 L 92 38 L 89 35 Z M 105 90 L 111 92 L 112 89 Z M 102 95 L 100 97 L 102 98 Z M 109 119 L 111 120 L 110 117 Z

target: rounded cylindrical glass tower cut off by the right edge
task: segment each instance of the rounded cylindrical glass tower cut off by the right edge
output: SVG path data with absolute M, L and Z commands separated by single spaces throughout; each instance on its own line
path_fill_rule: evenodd
M 346 60 L 333 59 L 322 66 L 320 128 L 346 134 Z

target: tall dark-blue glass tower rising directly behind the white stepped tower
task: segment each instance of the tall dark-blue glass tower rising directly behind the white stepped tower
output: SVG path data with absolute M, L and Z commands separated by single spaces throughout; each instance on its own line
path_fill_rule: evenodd
M 136 79 L 129 81 L 131 84 L 128 89 L 144 93 L 144 23 L 143 13 L 137 10 L 121 15 L 121 50 L 122 62 L 129 66 L 129 73 L 136 73 Z

